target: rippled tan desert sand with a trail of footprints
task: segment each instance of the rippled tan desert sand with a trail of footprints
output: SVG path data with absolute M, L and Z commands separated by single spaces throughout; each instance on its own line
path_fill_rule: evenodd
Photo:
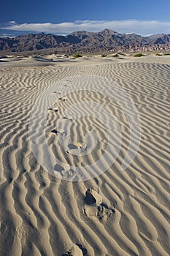
M 169 256 L 170 57 L 7 56 L 0 77 L 0 255 Z

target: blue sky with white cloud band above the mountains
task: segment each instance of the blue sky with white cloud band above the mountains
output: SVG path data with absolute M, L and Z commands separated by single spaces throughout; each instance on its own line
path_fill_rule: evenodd
M 1 2 L 0 36 L 102 29 L 170 34 L 169 10 L 169 0 L 9 0 Z

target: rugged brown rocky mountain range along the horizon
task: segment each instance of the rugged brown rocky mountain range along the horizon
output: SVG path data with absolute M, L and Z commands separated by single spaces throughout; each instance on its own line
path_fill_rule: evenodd
M 75 31 L 67 36 L 54 34 L 25 34 L 18 37 L 1 37 L 1 52 L 50 50 L 52 53 L 92 53 L 102 51 L 161 48 L 170 46 L 170 34 L 142 37 L 137 34 L 119 34 L 110 29 L 99 32 Z M 169 48 L 170 49 L 170 48 Z

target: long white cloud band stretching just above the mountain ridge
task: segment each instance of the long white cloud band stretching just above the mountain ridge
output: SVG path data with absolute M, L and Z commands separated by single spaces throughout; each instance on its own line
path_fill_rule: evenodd
M 32 31 L 53 34 L 69 34 L 72 31 L 101 31 L 113 29 L 120 33 L 136 33 L 141 35 L 170 33 L 170 22 L 159 20 L 76 20 L 64 23 L 22 23 L 14 20 L 8 26 L 1 27 L 12 31 Z

